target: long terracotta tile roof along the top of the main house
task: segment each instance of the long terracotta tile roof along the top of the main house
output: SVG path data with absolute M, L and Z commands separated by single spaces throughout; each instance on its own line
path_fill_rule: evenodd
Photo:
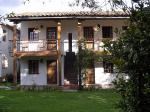
M 99 18 L 127 18 L 128 15 L 124 12 L 117 11 L 97 11 L 97 12 L 25 12 L 20 14 L 9 15 L 10 21 L 24 20 L 40 20 L 40 19 L 99 19 Z

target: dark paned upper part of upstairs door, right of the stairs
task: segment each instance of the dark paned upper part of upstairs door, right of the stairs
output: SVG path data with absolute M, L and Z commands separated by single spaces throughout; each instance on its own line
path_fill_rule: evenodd
M 94 40 L 94 30 L 93 27 L 84 27 L 83 28 L 84 38 L 88 41 Z

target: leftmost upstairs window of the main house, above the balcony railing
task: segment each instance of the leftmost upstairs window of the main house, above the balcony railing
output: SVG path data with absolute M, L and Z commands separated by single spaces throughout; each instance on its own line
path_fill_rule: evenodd
M 37 41 L 39 40 L 39 31 L 36 28 L 28 29 L 28 39 L 29 41 Z

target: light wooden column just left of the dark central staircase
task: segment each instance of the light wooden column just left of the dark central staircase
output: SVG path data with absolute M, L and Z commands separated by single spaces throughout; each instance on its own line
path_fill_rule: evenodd
M 59 79 L 59 86 L 62 85 L 62 78 L 61 78 L 61 22 L 57 22 L 57 39 L 58 39 L 58 79 Z

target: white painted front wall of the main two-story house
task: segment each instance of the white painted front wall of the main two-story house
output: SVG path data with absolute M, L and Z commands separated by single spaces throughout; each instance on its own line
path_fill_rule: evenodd
M 112 26 L 113 29 L 119 28 L 126 25 L 125 20 L 114 19 L 114 20 L 86 20 L 83 21 L 82 26 L 96 26 L 99 24 L 101 27 L 99 31 L 94 32 L 94 41 L 95 41 L 95 50 L 100 50 L 100 45 L 102 45 L 102 26 Z M 43 25 L 43 28 L 40 26 Z M 68 33 L 72 33 L 73 36 L 73 52 L 78 51 L 77 49 L 77 20 L 62 20 L 62 32 L 61 32 L 61 51 L 62 51 L 62 79 L 64 79 L 64 55 L 68 51 Z M 41 40 L 46 40 L 46 28 L 47 27 L 56 27 L 57 23 L 54 21 L 24 21 L 21 23 L 21 40 L 28 40 L 28 28 L 39 27 L 40 33 L 39 37 Z M 83 31 L 82 31 L 83 34 Z M 113 33 L 113 40 L 117 39 L 117 35 Z M 27 68 L 27 60 L 21 59 L 21 85 L 33 85 L 33 82 L 37 85 L 46 85 L 46 61 L 40 64 L 40 74 L 38 75 L 29 75 Z M 95 67 L 95 84 L 102 85 L 106 87 L 106 85 L 110 84 L 113 80 L 114 75 L 109 73 L 104 73 L 104 69 L 102 64 L 97 64 Z M 34 80 L 34 81 L 33 81 Z M 64 82 L 62 82 L 64 84 Z

